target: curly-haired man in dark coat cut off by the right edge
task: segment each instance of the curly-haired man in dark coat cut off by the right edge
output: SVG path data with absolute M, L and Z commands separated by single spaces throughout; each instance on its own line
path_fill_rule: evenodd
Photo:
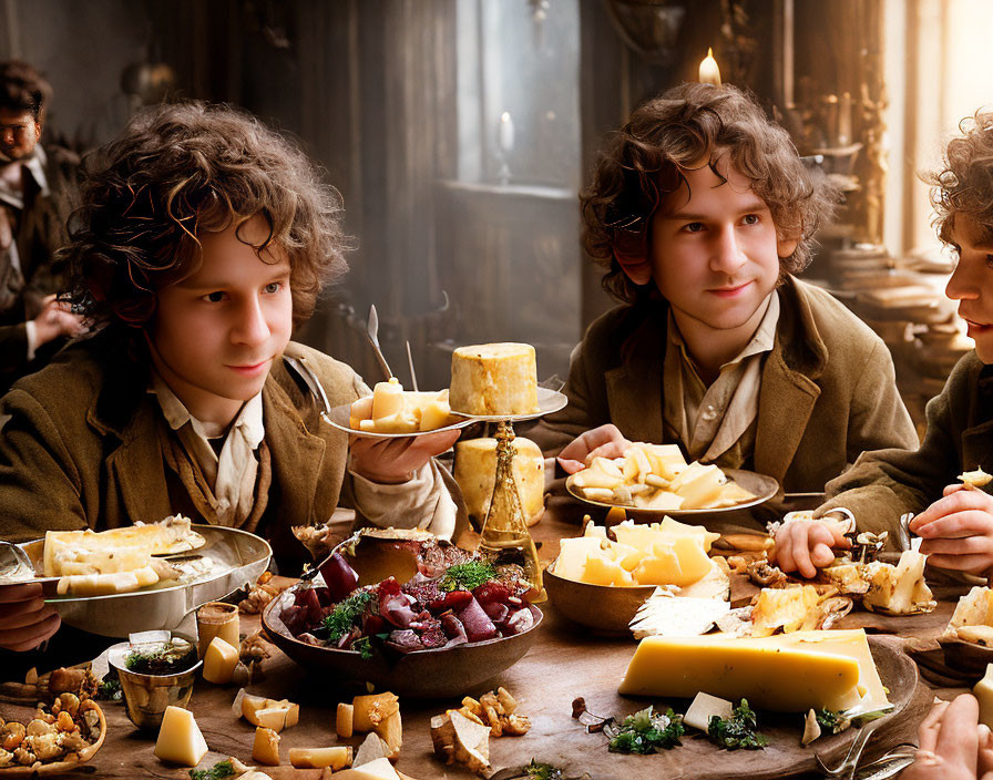
M 860 528 L 898 532 L 900 515 L 915 516 L 929 563 L 970 574 L 993 572 L 991 485 L 966 488 L 958 475 L 993 473 L 993 113 L 963 120 L 949 142 L 944 166 L 925 177 L 941 240 L 958 255 L 945 295 L 959 301 L 975 349 L 952 369 L 928 403 L 928 431 L 915 451 L 867 452 L 827 486 L 820 512 L 850 510 Z M 820 537 L 815 535 L 820 533 Z M 776 537 L 787 568 L 810 566 L 818 544 L 830 544 L 816 523 L 788 524 Z M 781 556 L 780 556 L 781 557 Z M 813 561 L 821 564 L 822 561 Z M 806 572 L 805 572 L 806 573 Z

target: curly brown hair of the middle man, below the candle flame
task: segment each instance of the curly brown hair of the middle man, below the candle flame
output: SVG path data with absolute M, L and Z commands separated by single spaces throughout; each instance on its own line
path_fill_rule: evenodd
M 611 296 L 626 302 L 646 297 L 648 286 L 628 279 L 616 255 L 647 257 L 652 217 L 683 184 L 679 167 L 725 152 L 769 206 L 778 235 L 799 239 L 780 263 L 784 273 L 807 267 L 813 234 L 832 215 L 837 191 L 811 175 L 789 134 L 751 96 L 730 85 L 686 83 L 635 109 L 612 134 L 580 195 L 583 246 L 606 269 L 602 284 Z

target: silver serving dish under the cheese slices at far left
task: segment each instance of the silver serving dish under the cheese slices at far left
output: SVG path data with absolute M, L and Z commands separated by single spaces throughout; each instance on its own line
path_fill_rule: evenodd
M 132 593 L 110 596 L 55 596 L 45 603 L 58 609 L 63 623 L 91 634 L 126 637 L 152 629 L 173 629 L 202 604 L 223 598 L 255 583 L 273 556 L 264 538 L 239 528 L 194 525 L 206 544 L 190 553 L 167 556 L 181 567 L 208 563 L 204 572 L 192 572 L 178 582 L 157 584 Z M 42 569 L 44 540 L 21 545 L 37 572 Z

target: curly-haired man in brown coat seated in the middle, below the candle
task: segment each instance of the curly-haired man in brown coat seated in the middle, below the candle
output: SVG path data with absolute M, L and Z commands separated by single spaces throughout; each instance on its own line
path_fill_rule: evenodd
M 833 193 L 733 86 L 632 114 L 582 195 L 587 253 L 622 306 L 573 353 L 535 438 L 574 472 L 629 441 L 821 491 L 863 450 L 913 447 L 883 342 L 798 280 Z M 840 540 L 839 540 L 840 541 Z

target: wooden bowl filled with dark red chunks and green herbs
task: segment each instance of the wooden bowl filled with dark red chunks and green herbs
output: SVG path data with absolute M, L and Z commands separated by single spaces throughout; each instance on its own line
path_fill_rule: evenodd
M 533 593 L 514 564 L 431 534 L 365 530 L 274 598 L 262 623 L 307 669 L 436 698 L 480 689 L 528 653 L 542 619 Z

